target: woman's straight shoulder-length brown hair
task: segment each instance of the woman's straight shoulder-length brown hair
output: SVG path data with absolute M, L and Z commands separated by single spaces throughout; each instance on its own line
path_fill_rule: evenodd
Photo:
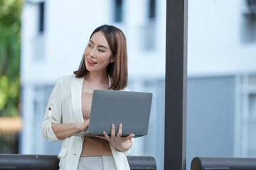
M 127 71 L 127 42 L 124 33 L 119 28 L 114 26 L 103 25 L 96 28 L 92 35 L 102 31 L 110 50 L 112 51 L 111 57 L 114 57 L 114 62 L 110 62 L 107 65 L 107 74 L 110 75 L 112 83 L 110 85 L 111 90 L 121 90 L 127 86 L 128 71 Z M 90 39 L 92 38 L 90 35 Z M 85 57 L 82 56 L 80 66 L 77 71 L 74 72 L 75 77 L 85 77 L 89 71 L 85 67 Z

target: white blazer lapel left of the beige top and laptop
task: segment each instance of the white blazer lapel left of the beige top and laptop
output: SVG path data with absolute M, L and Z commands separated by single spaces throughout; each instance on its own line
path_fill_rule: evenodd
M 83 123 L 84 119 L 82 117 L 82 78 L 74 78 L 71 85 L 71 98 L 73 104 L 73 111 L 75 118 L 78 123 Z

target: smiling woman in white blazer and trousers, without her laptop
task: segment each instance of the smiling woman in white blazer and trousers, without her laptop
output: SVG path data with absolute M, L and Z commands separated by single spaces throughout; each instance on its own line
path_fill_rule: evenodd
M 74 74 L 58 79 L 41 125 L 43 136 L 50 142 L 62 142 L 60 169 L 129 169 L 126 155 L 134 134 L 122 137 L 122 124 L 117 134 L 117 127 L 110 125 L 110 136 L 106 132 L 93 138 L 75 136 L 89 126 L 93 90 L 128 90 L 122 30 L 107 25 L 96 28 Z

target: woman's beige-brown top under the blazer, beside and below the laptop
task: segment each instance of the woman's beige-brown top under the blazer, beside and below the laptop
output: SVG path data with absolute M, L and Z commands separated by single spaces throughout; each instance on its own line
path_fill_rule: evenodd
M 92 94 L 82 91 L 82 116 L 84 120 L 90 118 Z M 112 155 L 110 144 L 107 140 L 97 137 L 85 137 L 80 157 L 97 157 Z

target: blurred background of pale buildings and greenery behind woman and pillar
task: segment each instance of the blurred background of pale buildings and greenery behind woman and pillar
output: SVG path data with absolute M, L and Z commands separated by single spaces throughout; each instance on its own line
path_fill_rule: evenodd
M 164 169 L 165 0 L 0 0 L 0 153 L 58 154 L 40 130 L 48 98 L 102 24 L 127 36 L 129 89 L 154 94 L 131 155 Z M 256 0 L 188 1 L 187 169 L 256 157 L 255 57 Z

